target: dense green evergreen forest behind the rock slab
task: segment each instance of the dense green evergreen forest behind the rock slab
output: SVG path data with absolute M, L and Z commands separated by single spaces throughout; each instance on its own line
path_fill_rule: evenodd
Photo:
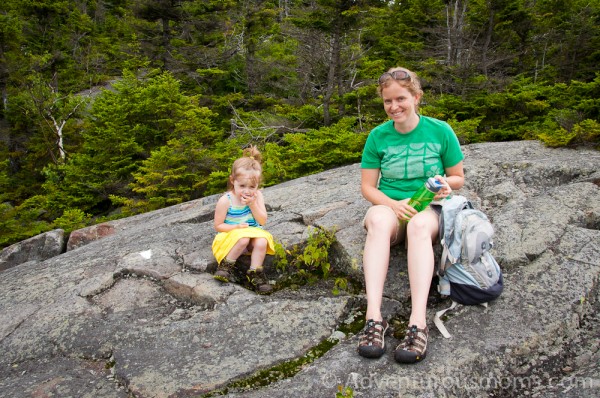
M 0 248 L 360 161 L 404 66 L 461 143 L 600 145 L 600 0 L 3 0 Z M 102 88 L 102 89 L 99 89 Z

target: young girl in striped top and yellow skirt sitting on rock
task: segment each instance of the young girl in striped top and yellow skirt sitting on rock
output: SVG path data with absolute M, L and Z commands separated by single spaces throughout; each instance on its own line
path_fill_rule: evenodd
M 273 289 L 263 270 L 265 255 L 275 254 L 273 236 L 262 226 L 267 222 L 267 209 L 258 190 L 262 177 L 261 154 L 254 146 L 246 148 L 243 157 L 233 162 L 228 191 L 217 202 L 214 225 L 217 230 L 212 245 L 219 266 L 214 278 L 233 281 L 236 260 L 251 253 L 246 275 L 257 293 Z

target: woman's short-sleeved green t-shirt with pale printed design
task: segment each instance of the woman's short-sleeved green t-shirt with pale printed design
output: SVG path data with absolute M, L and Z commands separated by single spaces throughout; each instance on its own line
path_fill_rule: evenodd
M 452 127 L 420 116 L 417 127 L 405 134 L 389 120 L 375 127 L 362 154 L 363 169 L 379 169 L 379 190 L 392 199 L 410 198 L 429 177 L 444 175 L 464 155 Z

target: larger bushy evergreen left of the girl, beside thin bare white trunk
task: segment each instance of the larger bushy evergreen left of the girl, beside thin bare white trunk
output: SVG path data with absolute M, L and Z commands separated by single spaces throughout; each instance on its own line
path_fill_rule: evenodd
M 133 174 L 153 148 L 179 138 L 180 126 L 197 126 L 194 106 L 170 73 L 125 73 L 94 101 L 81 151 L 46 184 L 55 206 L 98 214 L 111 208 L 111 196 L 130 197 Z

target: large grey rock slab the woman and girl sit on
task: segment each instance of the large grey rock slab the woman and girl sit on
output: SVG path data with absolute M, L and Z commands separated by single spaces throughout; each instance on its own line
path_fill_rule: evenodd
M 505 291 L 453 312 L 451 339 L 431 323 L 424 362 L 396 364 L 395 333 L 382 358 L 357 355 L 349 325 L 363 319 L 362 292 L 333 295 L 322 281 L 258 296 L 215 281 L 212 196 L 75 231 L 67 244 L 53 231 L 5 249 L 0 396 L 600 395 L 600 153 L 534 141 L 463 150 L 459 193 L 496 227 Z M 332 267 L 360 281 L 369 204 L 359 180 L 356 164 L 266 188 L 269 231 L 291 246 L 309 227 L 335 228 Z M 384 297 L 400 325 L 410 309 L 401 248 Z M 447 305 L 432 291 L 430 318 Z

